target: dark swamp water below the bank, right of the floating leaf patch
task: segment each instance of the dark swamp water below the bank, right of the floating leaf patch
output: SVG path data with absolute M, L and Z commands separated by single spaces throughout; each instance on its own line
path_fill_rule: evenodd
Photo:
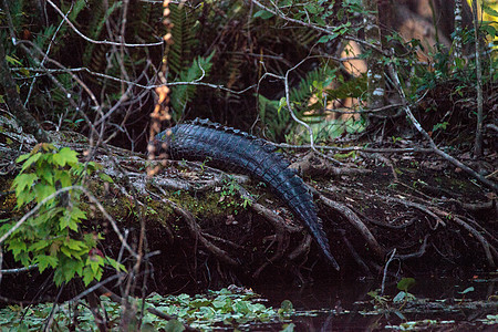
M 287 324 L 252 324 L 247 330 L 498 331 L 497 273 L 469 280 L 417 279 L 405 297 L 395 282 L 385 283 L 383 297 L 380 288 L 377 280 L 258 287 L 269 299 L 267 305 L 279 308 L 290 300 L 295 314 Z

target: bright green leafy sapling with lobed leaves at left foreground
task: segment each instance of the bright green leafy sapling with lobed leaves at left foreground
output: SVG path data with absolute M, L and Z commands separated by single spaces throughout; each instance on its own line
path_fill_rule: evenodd
M 80 208 L 80 193 L 74 186 L 81 186 L 83 177 L 95 172 L 98 165 L 82 164 L 76 155 L 68 147 L 59 151 L 43 143 L 20 156 L 17 162 L 23 165 L 12 183 L 17 209 L 37 206 L 20 221 L 0 227 L 0 237 L 11 232 L 6 245 L 14 259 L 24 267 L 38 264 L 40 272 L 53 268 L 58 286 L 76 274 L 85 284 L 100 280 L 105 264 L 124 269 L 96 249 L 102 239 L 100 234 L 82 230 L 86 214 Z

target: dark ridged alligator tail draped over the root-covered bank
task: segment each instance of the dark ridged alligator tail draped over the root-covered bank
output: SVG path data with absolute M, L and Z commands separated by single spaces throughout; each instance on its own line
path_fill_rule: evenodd
M 156 141 L 166 143 L 166 152 L 172 159 L 206 162 L 210 166 L 262 180 L 304 222 L 330 263 L 339 270 L 311 194 L 303 180 L 289 168 L 289 162 L 276 153 L 273 145 L 239 129 L 199 118 L 157 134 Z

